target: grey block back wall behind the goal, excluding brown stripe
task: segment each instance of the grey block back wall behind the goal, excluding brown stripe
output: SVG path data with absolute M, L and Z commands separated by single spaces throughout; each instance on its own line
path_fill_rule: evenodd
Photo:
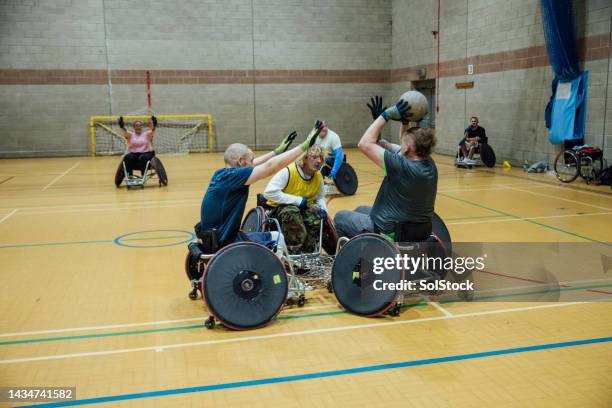
M 0 70 L 373 70 L 390 63 L 391 0 L 0 1 Z M 87 154 L 89 116 L 142 111 L 144 80 L 110 89 L 0 85 L 0 155 Z M 153 108 L 212 113 L 219 148 L 266 148 L 323 116 L 354 144 L 366 123 L 355 115 L 389 84 L 354 85 L 154 83 Z

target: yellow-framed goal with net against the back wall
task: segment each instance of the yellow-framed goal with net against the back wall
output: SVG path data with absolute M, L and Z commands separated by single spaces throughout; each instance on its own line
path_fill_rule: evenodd
M 213 151 L 213 127 L 210 114 L 155 115 L 157 128 L 153 138 L 156 153 L 190 153 Z M 134 122 L 141 121 L 146 130 L 151 126 L 150 115 L 125 115 L 125 127 L 133 130 Z M 120 155 L 127 151 L 119 116 L 92 116 L 89 120 L 91 153 Z

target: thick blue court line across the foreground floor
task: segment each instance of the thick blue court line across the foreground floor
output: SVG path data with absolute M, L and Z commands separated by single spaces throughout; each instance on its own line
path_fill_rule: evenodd
M 473 359 L 493 357 L 493 356 L 527 353 L 531 351 L 551 350 L 551 349 L 559 349 L 559 348 L 564 348 L 564 347 L 575 347 L 575 346 L 584 346 L 588 344 L 609 343 L 609 342 L 612 342 L 612 337 L 598 337 L 598 338 L 584 339 L 584 340 L 565 341 L 565 342 L 560 342 L 560 343 L 548 343 L 548 344 L 539 344 L 535 346 L 492 350 L 492 351 L 485 351 L 485 352 L 480 352 L 480 353 L 458 354 L 458 355 L 447 356 L 447 357 L 437 357 L 437 358 L 428 358 L 428 359 L 423 359 L 423 360 L 402 361 L 402 362 L 390 363 L 390 364 L 362 366 L 362 367 L 355 367 L 355 368 L 347 368 L 343 370 L 320 371 L 320 372 L 315 372 L 315 373 L 290 375 L 290 376 L 284 376 L 284 377 L 270 377 L 270 378 L 262 378 L 259 380 L 236 381 L 236 382 L 228 382 L 228 383 L 221 383 L 221 384 L 202 385 L 198 387 L 174 388 L 174 389 L 169 389 L 169 390 L 140 392 L 140 393 L 134 393 L 134 394 L 111 395 L 108 397 L 87 398 L 87 399 L 75 400 L 75 401 L 63 401 L 63 402 L 54 402 L 54 403 L 48 403 L 48 404 L 29 405 L 29 406 L 31 407 L 69 407 L 69 406 L 76 406 L 76 405 L 101 404 L 101 403 L 115 402 L 115 401 L 127 401 L 127 400 L 143 399 L 143 398 L 163 397 L 167 395 L 180 395 L 180 394 L 191 394 L 191 393 L 196 393 L 196 392 L 219 391 L 219 390 L 227 390 L 227 389 L 234 389 L 234 388 L 255 387 L 258 385 L 266 385 L 266 384 L 280 384 L 280 383 L 295 382 L 295 381 L 314 380 L 317 378 L 338 377 L 338 376 L 344 376 L 344 375 L 354 375 L 354 374 L 369 373 L 369 372 L 376 372 L 376 371 L 394 370 L 398 368 L 448 363 L 452 361 L 473 360 Z

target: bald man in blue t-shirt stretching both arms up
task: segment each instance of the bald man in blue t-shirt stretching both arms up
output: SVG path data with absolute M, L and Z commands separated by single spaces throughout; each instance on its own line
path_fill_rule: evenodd
M 321 127 L 321 122 L 317 121 L 302 144 L 287 150 L 297 136 L 292 132 L 276 149 L 257 158 L 244 144 L 230 145 L 224 154 L 225 167 L 215 171 L 202 200 L 200 230 L 217 230 L 221 247 L 236 241 L 266 243 L 272 240 L 270 233 L 247 234 L 239 231 L 249 186 L 297 160 L 315 143 Z

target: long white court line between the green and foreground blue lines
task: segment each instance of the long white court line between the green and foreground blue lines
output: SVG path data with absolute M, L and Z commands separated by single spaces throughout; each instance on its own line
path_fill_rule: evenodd
M 498 309 L 498 310 L 490 310 L 490 311 L 485 311 L 485 312 L 455 314 L 452 316 L 427 317 L 427 318 L 417 319 L 417 320 L 400 320 L 400 321 L 383 322 L 383 323 L 358 324 L 358 325 L 352 325 L 352 326 L 330 327 L 327 329 L 300 330 L 300 331 L 295 331 L 295 332 L 264 334 L 260 336 L 245 336 L 245 337 L 235 337 L 235 338 L 220 339 L 220 340 L 204 340 L 204 341 L 196 341 L 196 342 L 191 342 L 191 343 L 163 344 L 163 345 L 157 345 L 157 346 L 126 348 L 126 349 L 116 349 L 116 350 L 106 350 L 106 351 L 93 351 L 93 352 L 86 352 L 86 353 L 58 354 L 58 355 L 52 355 L 52 356 L 39 356 L 39 357 L 24 357 L 24 358 L 15 358 L 15 359 L 9 359 L 9 360 L 0 360 L 0 364 L 16 364 L 16 363 L 27 363 L 27 362 L 33 362 L 33 361 L 48 361 L 48 360 L 63 360 L 63 359 L 69 359 L 69 358 L 108 356 L 108 355 L 113 355 L 113 354 L 126 354 L 126 353 L 135 353 L 135 352 L 141 352 L 141 351 L 156 351 L 157 352 L 157 351 L 179 349 L 179 348 L 185 348 L 185 347 L 197 347 L 197 346 L 228 344 L 228 343 L 242 343 L 242 342 L 247 342 L 251 340 L 253 341 L 267 340 L 267 339 L 302 336 L 302 335 L 309 335 L 309 334 L 334 333 L 334 332 L 341 332 L 341 331 L 348 331 L 348 330 L 369 329 L 369 328 L 375 328 L 375 327 L 398 326 L 398 325 L 405 325 L 405 324 L 431 322 L 431 321 L 437 321 L 437 320 L 460 319 L 463 317 L 487 316 L 487 315 L 495 315 L 495 314 L 500 314 L 500 313 L 522 312 L 522 311 L 528 311 L 528 310 L 546 309 L 546 308 L 552 308 L 552 307 L 564 307 L 564 306 L 572 306 L 572 305 L 587 304 L 587 303 L 593 303 L 593 302 L 590 301 L 590 302 L 573 302 L 573 303 L 552 303 L 552 304 L 546 304 L 546 305 L 527 306 L 527 307 L 519 307 L 519 308 L 513 308 L 513 309 Z

